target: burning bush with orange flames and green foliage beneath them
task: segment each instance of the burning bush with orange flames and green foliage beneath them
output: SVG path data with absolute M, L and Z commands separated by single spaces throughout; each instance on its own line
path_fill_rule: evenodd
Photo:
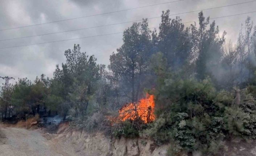
M 117 138 L 134 138 L 139 136 L 139 131 L 145 129 L 147 123 L 153 122 L 154 115 L 154 96 L 146 94 L 143 98 L 135 103 L 129 103 L 119 110 L 119 118 L 109 117 L 113 123 L 111 133 Z

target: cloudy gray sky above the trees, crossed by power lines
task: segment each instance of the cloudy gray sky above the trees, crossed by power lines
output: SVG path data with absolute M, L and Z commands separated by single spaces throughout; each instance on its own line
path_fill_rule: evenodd
M 112 12 L 168 1 L 174 0 L 0 0 L 0 29 L 65 20 L 67 18 Z M 170 14 L 175 14 L 246 1 L 251 0 L 184 0 L 125 12 L 0 31 L 0 40 L 157 17 L 161 15 L 162 10 L 167 9 L 170 9 Z M 206 10 L 203 13 L 205 16 L 214 18 L 250 11 L 256 11 L 256 2 Z M 198 12 L 181 14 L 179 16 L 183 22 L 194 21 L 197 20 Z M 256 21 L 256 13 L 215 20 L 216 24 L 220 27 L 221 33 L 224 30 L 227 31 L 226 41 L 231 39 L 233 42 L 236 42 L 241 23 L 244 23 L 247 16 L 250 16 L 252 21 Z M 149 27 L 159 26 L 160 20 L 160 18 L 149 20 Z M 0 41 L 0 48 L 122 32 L 130 25 L 131 23 L 127 23 L 11 41 Z M 116 48 L 122 44 L 122 34 L 0 49 L 0 76 L 12 76 L 16 79 L 18 77 L 28 77 L 30 80 L 34 80 L 36 76 L 44 73 L 46 76 L 52 77 L 55 65 L 65 62 L 64 51 L 72 49 L 74 44 L 80 44 L 82 51 L 86 51 L 88 55 L 95 55 L 98 63 L 108 65 L 110 54 L 116 51 Z M 0 80 L 1 83 L 3 83 L 3 80 Z

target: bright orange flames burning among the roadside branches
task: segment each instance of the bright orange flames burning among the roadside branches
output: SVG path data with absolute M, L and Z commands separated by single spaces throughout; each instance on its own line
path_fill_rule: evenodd
M 126 104 L 121 107 L 119 117 L 121 121 L 140 119 L 144 123 L 149 123 L 156 119 L 154 107 L 154 96 L 146 94 L 146 98 L 141 99 L 139 102 Z

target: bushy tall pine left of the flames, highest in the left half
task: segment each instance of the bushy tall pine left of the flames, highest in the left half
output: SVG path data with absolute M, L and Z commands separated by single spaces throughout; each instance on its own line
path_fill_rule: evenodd
M 62 69 L 56 66 L 51 87 L 55 95 L 53 99 L 61 105 L 64 119 L 71 108 L 77 117 L 86 114 L 90 97 L 95 93 L 95 83 L 100 79 L 100 69 L 104 68 L 96 63 L 94 55 L 89 57 L 86 52 L 80 52 L 79 45 L 66 50 L 65 56 Z

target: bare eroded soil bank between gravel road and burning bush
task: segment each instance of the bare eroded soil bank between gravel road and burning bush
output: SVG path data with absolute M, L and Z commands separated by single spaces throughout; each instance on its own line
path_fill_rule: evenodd
M 63 146 L 73 144 L 76 151 L 86 156 L 164 156 L 168 148 L 168 145 L 157 147 L 151 140 L 111 139 L 102 133 L 88 134 L 83 130 L 69 130 L 55 139 Z

